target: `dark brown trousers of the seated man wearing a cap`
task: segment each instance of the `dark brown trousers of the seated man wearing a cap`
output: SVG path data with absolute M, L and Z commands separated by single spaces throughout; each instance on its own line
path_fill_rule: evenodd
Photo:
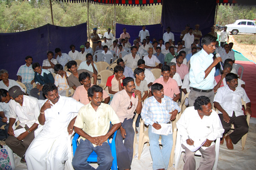
M 18 126 L 16 129 L 23 128 L 22 126 Z M 29 127 L 25 127 L 26 130 L 29 129 Z M 37 128 L 36 128 L 37 129 Z M 24 139 L 23 141 L 19 141 L 15 136 L 9 136 L 6 139 L 6 144 L 9 146 L 14 153 L 16 153 L 18 156 L 22 157 L 25 155 L 27 148 L 31 144 L 31 142 L 34 140 L 35 135 L 34 131 L 32 130 Z

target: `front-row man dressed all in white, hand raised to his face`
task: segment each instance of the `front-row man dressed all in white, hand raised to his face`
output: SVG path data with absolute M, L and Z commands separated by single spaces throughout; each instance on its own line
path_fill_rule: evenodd
M 28 170 L 64 170 L 68 159 L 67 137 L 72 134 L 76 120 L 72 115 L 78 113 L 83 104 L 71 97 L 59 96 L 52 83 L 45 84 L 43 91 L 47 100 L 38 121 L 44 127 L 26 151 L 26 164 Z

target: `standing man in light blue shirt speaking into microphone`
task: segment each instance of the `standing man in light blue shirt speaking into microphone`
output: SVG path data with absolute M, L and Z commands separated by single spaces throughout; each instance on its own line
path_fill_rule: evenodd
M 189 106 L 193 106 L 198 96 L 207 96 L 213 104 L 215 65 L 221 62 L 221 57 L 212 59 L 215 51 L 216 37 L 210 34 L 202 38 L 203 49 L 190 59 L 189 81 L 191 91 Z

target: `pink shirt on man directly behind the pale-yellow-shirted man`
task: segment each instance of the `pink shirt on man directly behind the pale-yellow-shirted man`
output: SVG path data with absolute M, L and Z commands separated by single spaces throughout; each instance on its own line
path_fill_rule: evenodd
M 91 84 L 91 87 L 93 84 Z M 106 99 L 108 96 L 107 92 L 103 90 L 103 99 Z M 78 102 L 83 103 L 84 105 L 87 105 L 90 103 L 87 90 L 84 88 L 84 85 L 80 85 L 76 88 L 76 91 L 74 93 L 73 99 L 75 99 Z

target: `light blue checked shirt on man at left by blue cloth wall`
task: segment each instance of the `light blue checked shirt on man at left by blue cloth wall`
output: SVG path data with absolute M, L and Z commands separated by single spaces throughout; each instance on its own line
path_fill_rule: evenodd
M 29 67 L 26 64 L 21 65 L 17 72 L 17 76 L 22 77 L 22 82 L 30 83 L 34 79 L 34 76 L 35 76 L 35 72 L 32 68 L 32 64 L 29 65 Z

